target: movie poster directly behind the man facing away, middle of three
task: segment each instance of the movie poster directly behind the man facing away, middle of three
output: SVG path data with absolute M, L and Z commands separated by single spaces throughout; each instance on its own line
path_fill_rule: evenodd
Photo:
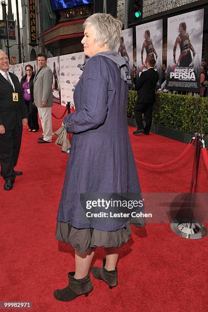
M 163 20 L 155 20 L 136 26 L 137 76 L 147 70 L 149 58 L 155 59 L 155 70 L 159 72 L 157 88 L 161 87 L 163 58 Z

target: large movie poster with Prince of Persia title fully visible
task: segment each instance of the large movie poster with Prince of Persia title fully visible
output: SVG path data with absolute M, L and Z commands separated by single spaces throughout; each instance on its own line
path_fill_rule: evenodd
M 198 92 L 204 10 L 168 18 L 167 83 L 169 90 Z

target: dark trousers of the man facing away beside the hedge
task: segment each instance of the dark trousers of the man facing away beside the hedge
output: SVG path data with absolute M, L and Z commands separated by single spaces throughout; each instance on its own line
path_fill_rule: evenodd
M 135 103 L 135 119 L 138 129 L 144 129 L 146 133 L 149 133 L 152 123 L 152 110 L 154 103 L 141 103 L 136 101 Z M 144 114 L 144 120 L 146 126 L 144 127 L 142 122 L 142 114 Z

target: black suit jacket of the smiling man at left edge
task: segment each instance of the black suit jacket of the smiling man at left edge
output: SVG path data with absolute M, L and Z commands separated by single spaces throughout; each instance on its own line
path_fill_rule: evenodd
M 9 74 L 19 100 L 18 102 L 13 101 L 13 87 L 0 73 L 0 124 L 4 125 L 6 131 L 14 129 L 16 122 L 18 122 L 19 127 L 22 127 L 22 119 L 28 118 L 18 77 L 12 72 L 9 72 Z

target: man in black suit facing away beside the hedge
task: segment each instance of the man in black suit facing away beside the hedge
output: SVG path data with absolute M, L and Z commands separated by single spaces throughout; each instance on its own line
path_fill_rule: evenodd
M 137 80 L 137 101 L 135 103 L 135 119 L 137 131 L 133 134 L 149 135 L 152 122 L 152 110 L 155 102 L 155 88 L 159 80 L 159 73 L 154 70 L 155 60 L 150 58 L 147 61 L 147 70 L 143 71 Z M 142 114 L 146 126 L 142 123 Z

